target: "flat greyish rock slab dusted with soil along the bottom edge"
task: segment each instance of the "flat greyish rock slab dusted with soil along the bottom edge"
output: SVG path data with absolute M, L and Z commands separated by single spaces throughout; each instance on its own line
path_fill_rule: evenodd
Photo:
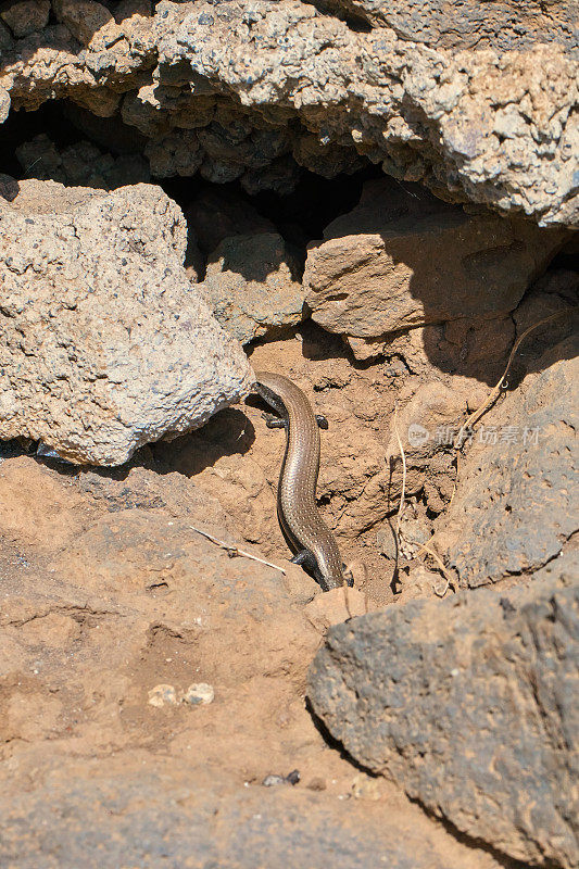
M 0 858 L 17 869 L 446 866 L 433 836 L 408 829 L 401 843 L 386 826 L 365 822 L 362 807 L 311 793 L 290 802 L 280 790 L 288 789 L 223 793 L 194 778 L 167 786 L 163 774 L 144 773 L 51 786 L 5 806 Z

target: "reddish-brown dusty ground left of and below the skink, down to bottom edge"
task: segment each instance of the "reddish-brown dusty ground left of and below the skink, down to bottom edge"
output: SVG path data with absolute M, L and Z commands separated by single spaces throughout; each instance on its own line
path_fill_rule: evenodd
M 198 477 L 158 445 L 77 473 L 1 446 L 3 869 L 499 869 L 326 745 L 304 702 L 316 585 L 192 530 L 241 542 Z M 198 682 L 212 703 L 149 702 Z

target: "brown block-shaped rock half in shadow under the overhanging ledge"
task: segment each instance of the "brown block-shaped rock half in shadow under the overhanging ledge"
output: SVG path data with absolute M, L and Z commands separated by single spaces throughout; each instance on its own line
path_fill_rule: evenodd
M 429 323 L 512 311 L 565 234 L 489 214 L 465 214 L 388 179 L 307 254 L 312 318 L 331 332 L 376 339 Z

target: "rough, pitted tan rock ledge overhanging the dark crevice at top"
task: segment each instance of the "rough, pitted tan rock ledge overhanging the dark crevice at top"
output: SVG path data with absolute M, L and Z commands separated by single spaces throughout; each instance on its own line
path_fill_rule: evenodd
M 281 191 L 297 166 L 332 177 L 369 160 L 455 201 L 577 224 L 568 7 L 533 8 L 523 32 L 518 12 L 514 30 L 501 21 L 513 21 L 508 4 L 496 9 L 468 3 L 441 39 L 440 17 L 425 33 L 412 3 L 390 13 L 406 28 L 387 15 L 368 32 L 299 0 L 160 2 L 154 12 L 147 0 L 114 12 L 54 0 L 56 23 L 4 34 L 2 111 L 7 100 L 18 110 L 70 99 L 121 112 L 149 139 L 159 176 L 200 172 Z M 503 38 L 482 27 L 480 43 L 456 50 L 470 45 L 471 14 Z

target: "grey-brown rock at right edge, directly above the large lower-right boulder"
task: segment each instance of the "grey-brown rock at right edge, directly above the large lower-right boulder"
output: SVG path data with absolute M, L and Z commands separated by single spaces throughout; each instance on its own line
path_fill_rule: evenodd
M 537 570 L 579 527 L 575 356 L 572 337 L 546 351 L 466 448 L 439 550 L 463 587 Z

